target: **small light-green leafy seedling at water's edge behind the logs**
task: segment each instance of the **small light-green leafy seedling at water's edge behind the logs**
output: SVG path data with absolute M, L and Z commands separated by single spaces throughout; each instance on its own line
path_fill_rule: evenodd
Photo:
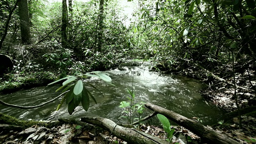
M 126 101 L 122 101 L 120 102 L 120 108 L 124 108 L 123 113 L 126 114 L 126 116 L 122 116 L 123 118 L 127 118 L 127 123 L 130 127 L 132 127 L 132 124 L 134 122 L 134 120 L 140 120 L 141 119 L 141 115 L 143 113 L 144 110 L 144 102 L 140 102 L 140 103 L 136 103 L 134 104 L 134 100 L 135 100 L 135 94 L 134 92 L 130 91 L 127 89 L 127 92 L 130 94 L 130 97 L 127 97 L 127 99 L 130 102 L 126 102 Z M 128 110 L 127 110 L 128 108 Z M 136 117 L 135 115 L 138 114 L 138 117 Z M 135 117 L 135 118 L 134 118 Z

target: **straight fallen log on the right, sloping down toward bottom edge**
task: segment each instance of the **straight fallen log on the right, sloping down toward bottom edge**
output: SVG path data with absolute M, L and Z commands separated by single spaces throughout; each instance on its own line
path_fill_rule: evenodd
M 180 126 L 184 126 L 188 130 L 191 130 L 196 135 L 200 136 L 202 140 L 205 140 L 209 144 L 240 144 L 227 135 L 221 134 L 220 131 L 212 130 L 211 128 L 208 128 L 195 120 L 186 118 L 171 110 L 167 110 L 151 103 L 146 103 L 145 106 L 154 112 L 166 116 L 168 119 L 176 122 Z

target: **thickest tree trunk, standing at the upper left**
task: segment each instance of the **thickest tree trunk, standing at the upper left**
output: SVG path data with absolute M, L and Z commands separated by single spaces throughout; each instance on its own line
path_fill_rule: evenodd
M 30 44 L 30 23 L 28 14 L 28 0 L 20 0 L 18 2 L 19 17 L 20 17 L 20 34 L 21 41 L 25 44 Z

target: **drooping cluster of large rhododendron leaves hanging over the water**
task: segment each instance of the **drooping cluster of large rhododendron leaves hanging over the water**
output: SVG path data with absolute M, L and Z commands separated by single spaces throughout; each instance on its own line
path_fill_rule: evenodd
M 91 86 L 92 88 L 95 88 L 95 87 L 92 84 L 89 84 L 88 82 L 83 82 L 83 80 L 88 79 L 90 77 L 100 78 L 108 83 L 112 81 L 112 79 L 107 75 L 107 73 L 95 71 L 95 72 L 88 72 L 86 74 L 76 73 L 76 76 L 66 76 L 65 78 L 61 78 L 59 80 L 56 80 L 50 83 L 50 84 L 54 84 L 61 80 L 66 80 L 62 83 L 62 86 L 56 90 L 56 92 L 58 92 L 59 90 L 64 88 L 64 90 L 62 90 L 62 93 L 66 93 L 62 97 L 62 100 L 58 105 L 57 110 L 59 110 L 62 104 L 64 103 L 64 101 L 66 101 L 66 104 L 68 104 L 68 113 L 70 115 L 74 112 L 75 108 L 80 103 L 82 103 L 82 107 L 84 108 L 84 110 L 87 111 L 90 106 L 89 96 L 97 104 L 94 96 L 92 96 L 90 91 L 86 88 L 86 86 Z

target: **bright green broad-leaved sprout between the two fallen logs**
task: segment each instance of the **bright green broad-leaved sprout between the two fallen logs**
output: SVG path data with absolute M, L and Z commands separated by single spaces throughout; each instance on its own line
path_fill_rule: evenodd
M 171 142 L 172 141 L 172 136 L 174 134 L 174 128 L 171 128 L 171 124 L 169 120 L 163 116 L 162 114 L 157 114 L 158 119 L 163 125 L 164 131 L 167 132 L 167 141 Z

